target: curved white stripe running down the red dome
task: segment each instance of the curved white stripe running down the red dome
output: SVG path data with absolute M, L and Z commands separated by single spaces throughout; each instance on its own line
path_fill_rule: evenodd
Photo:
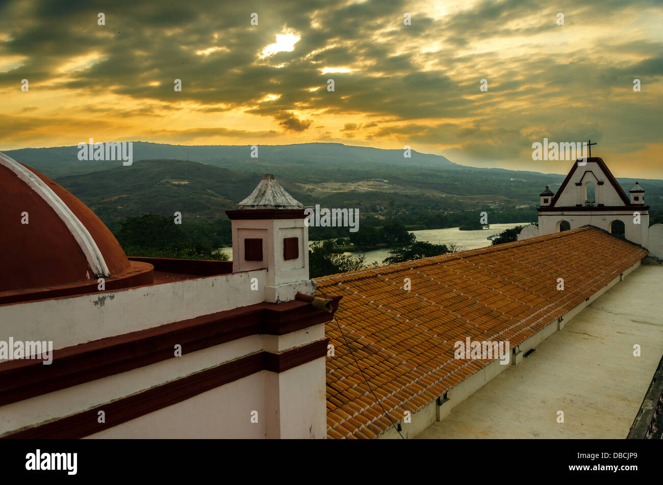
M 62 199 L 60 199 L 60 197 L 58 197 L 58 195 L 44 183 L 43 180 L 38 178 L 38 176 L 19 164 L 19 162 L 13 158 L 5 155 L 3 152 L 0 152 L 0 165 L 7 167 L 14 172 L 30 189 L 40 195 L 40 197 L 46 201 L 48 206 L 55 211 L 58 217 L 62 219 L 62 222 L 64 222 L 67 229 L 69 229 L 69 232 L 74 236 L 74 239 L 76 239 L 76 243 L 80 246 L 83 254 L 85 254 L 90 269 L 95 276 L 111 276 L 97 243 L 95 243 L 90 232 L 88 232 L 88 229 L 72 212 L 72 209 L 70 209 L 66 203 L 64 203 Z

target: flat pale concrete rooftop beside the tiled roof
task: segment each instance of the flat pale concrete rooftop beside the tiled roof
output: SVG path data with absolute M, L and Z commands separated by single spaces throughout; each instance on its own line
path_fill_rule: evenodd
M 663 354 L 662 289 L 663 266 L 640 266 L 416 438 L 627 437 Z

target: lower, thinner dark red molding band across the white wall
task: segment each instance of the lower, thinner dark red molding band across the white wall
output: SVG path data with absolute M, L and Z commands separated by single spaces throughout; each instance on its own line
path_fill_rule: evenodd
M 223 384 L 255 374 L 261 370 L 284 372 L 290 368 L 324 357 L 329 339 L 322 339 L 294 350 L 274 354 L 258 352 L 211 369 L 196 372 L 156 388 L 82 411 L 71 416 L 17 431 L 4 439 L 78 439 L 99 433 L 121 423 L 182 402 Z M 99 423 L 99 411 L 105 423 Z

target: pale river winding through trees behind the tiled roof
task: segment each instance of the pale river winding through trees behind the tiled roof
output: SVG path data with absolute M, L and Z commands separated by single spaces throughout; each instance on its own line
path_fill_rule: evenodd
M 511 229 L 517 225 L 528 225 L 529 223 L 491 224 L 490 229 L 479 229 L 478 231 L 459 231 L 457 227 L 447 229 L 425 229 L 424 231 L 410 231 L 417 241 L 426 241 L 432 244 L 458 244 L 462 250 L 483 248 L 490 246 L 491 241 L 487 237 L 499 234 L 505 229 Z M 219 248 L 219 251 L 233 258 L 233 248 Z M 389 248 L 375 249 L 370 251 L 346 252 L 353 256 L 366 256 L 366 264 L 383 264 L 383 260 L 389 256 Z

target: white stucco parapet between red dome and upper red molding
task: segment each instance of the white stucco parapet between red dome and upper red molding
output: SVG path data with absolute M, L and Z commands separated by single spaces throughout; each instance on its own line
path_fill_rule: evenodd
M 257 278 L 258 290 L 251 290 Z M 0 305 L 2 335 L 52 341 L 62 349 L 265 301 L 267 272 L 256 270 L 43 301 Z

